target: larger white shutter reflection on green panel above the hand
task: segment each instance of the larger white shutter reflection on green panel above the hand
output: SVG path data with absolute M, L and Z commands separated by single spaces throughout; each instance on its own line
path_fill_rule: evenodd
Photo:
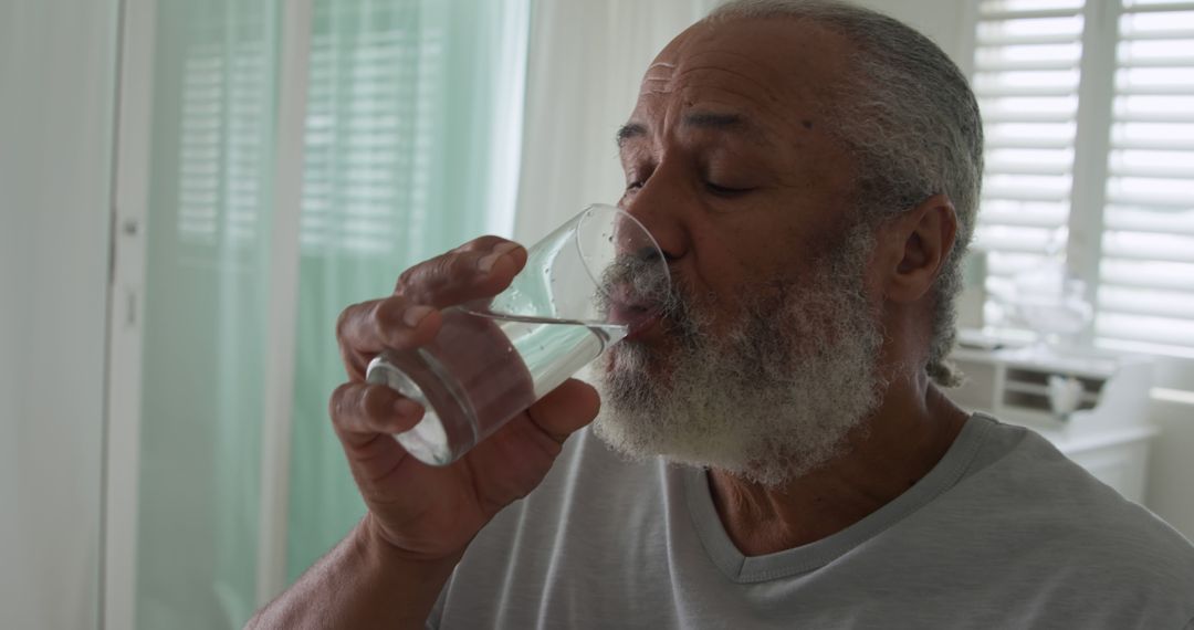
M 423 239 L 429 165 L 419 149 L 438 132 L 426 104 L 438 98 L 442 37 L 420 30 L 417 12 L 417 2 L 314 4 L 304 253 L 381 254 Z

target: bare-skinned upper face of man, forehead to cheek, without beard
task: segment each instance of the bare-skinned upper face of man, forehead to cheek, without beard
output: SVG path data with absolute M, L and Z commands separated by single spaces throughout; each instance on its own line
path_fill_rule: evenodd
M 825 118 L 847 47 L 790 20 L 697 25 L 647 70 L 620 134 L 622 206 L 687 291 L 800 279 L 841 239 L 854 174 Z

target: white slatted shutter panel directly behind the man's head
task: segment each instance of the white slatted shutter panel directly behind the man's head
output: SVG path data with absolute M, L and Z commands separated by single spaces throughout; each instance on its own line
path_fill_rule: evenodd
M 983 0 L 973 87 L 986 132 L 975 246 L 987 289 L 1065 249 L 1073 180 L 1083 0 Z

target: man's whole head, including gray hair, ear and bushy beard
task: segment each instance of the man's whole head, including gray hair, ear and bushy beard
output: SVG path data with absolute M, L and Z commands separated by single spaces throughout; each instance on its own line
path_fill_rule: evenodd
M 934 73 L 950 72 L 965 98 L 938 99 Z M 973 105 L 948 58 L 843 5 L 732 4 L 672 41 L 618 148 L 621 205 L 675 292 L 658 326 L 607 353 L 597 434 L 782 483 L 868 420 L 915 413 L 930 375 L 948 381 L 980 141 L 977 115 L 942 123 L 937 100 Z

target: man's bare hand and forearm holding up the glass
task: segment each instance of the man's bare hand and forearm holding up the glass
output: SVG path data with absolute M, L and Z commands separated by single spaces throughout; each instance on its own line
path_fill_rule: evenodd
M 337 336 L 349 382 L 328 412 L 369 512 L 248 628 L 424 628 L 473 537 L 538 486 L 564 439 L 597 415 L 596 390 L 567 381 L 461 459 L 429 467 L 392 437 L 424 410 L 364 379 L 382 350 L 429 344 L 439 309 L 496 295 L 525 262 L 513 243 L 478 239 L 407 270 L 394 295 L 345 309 Z

